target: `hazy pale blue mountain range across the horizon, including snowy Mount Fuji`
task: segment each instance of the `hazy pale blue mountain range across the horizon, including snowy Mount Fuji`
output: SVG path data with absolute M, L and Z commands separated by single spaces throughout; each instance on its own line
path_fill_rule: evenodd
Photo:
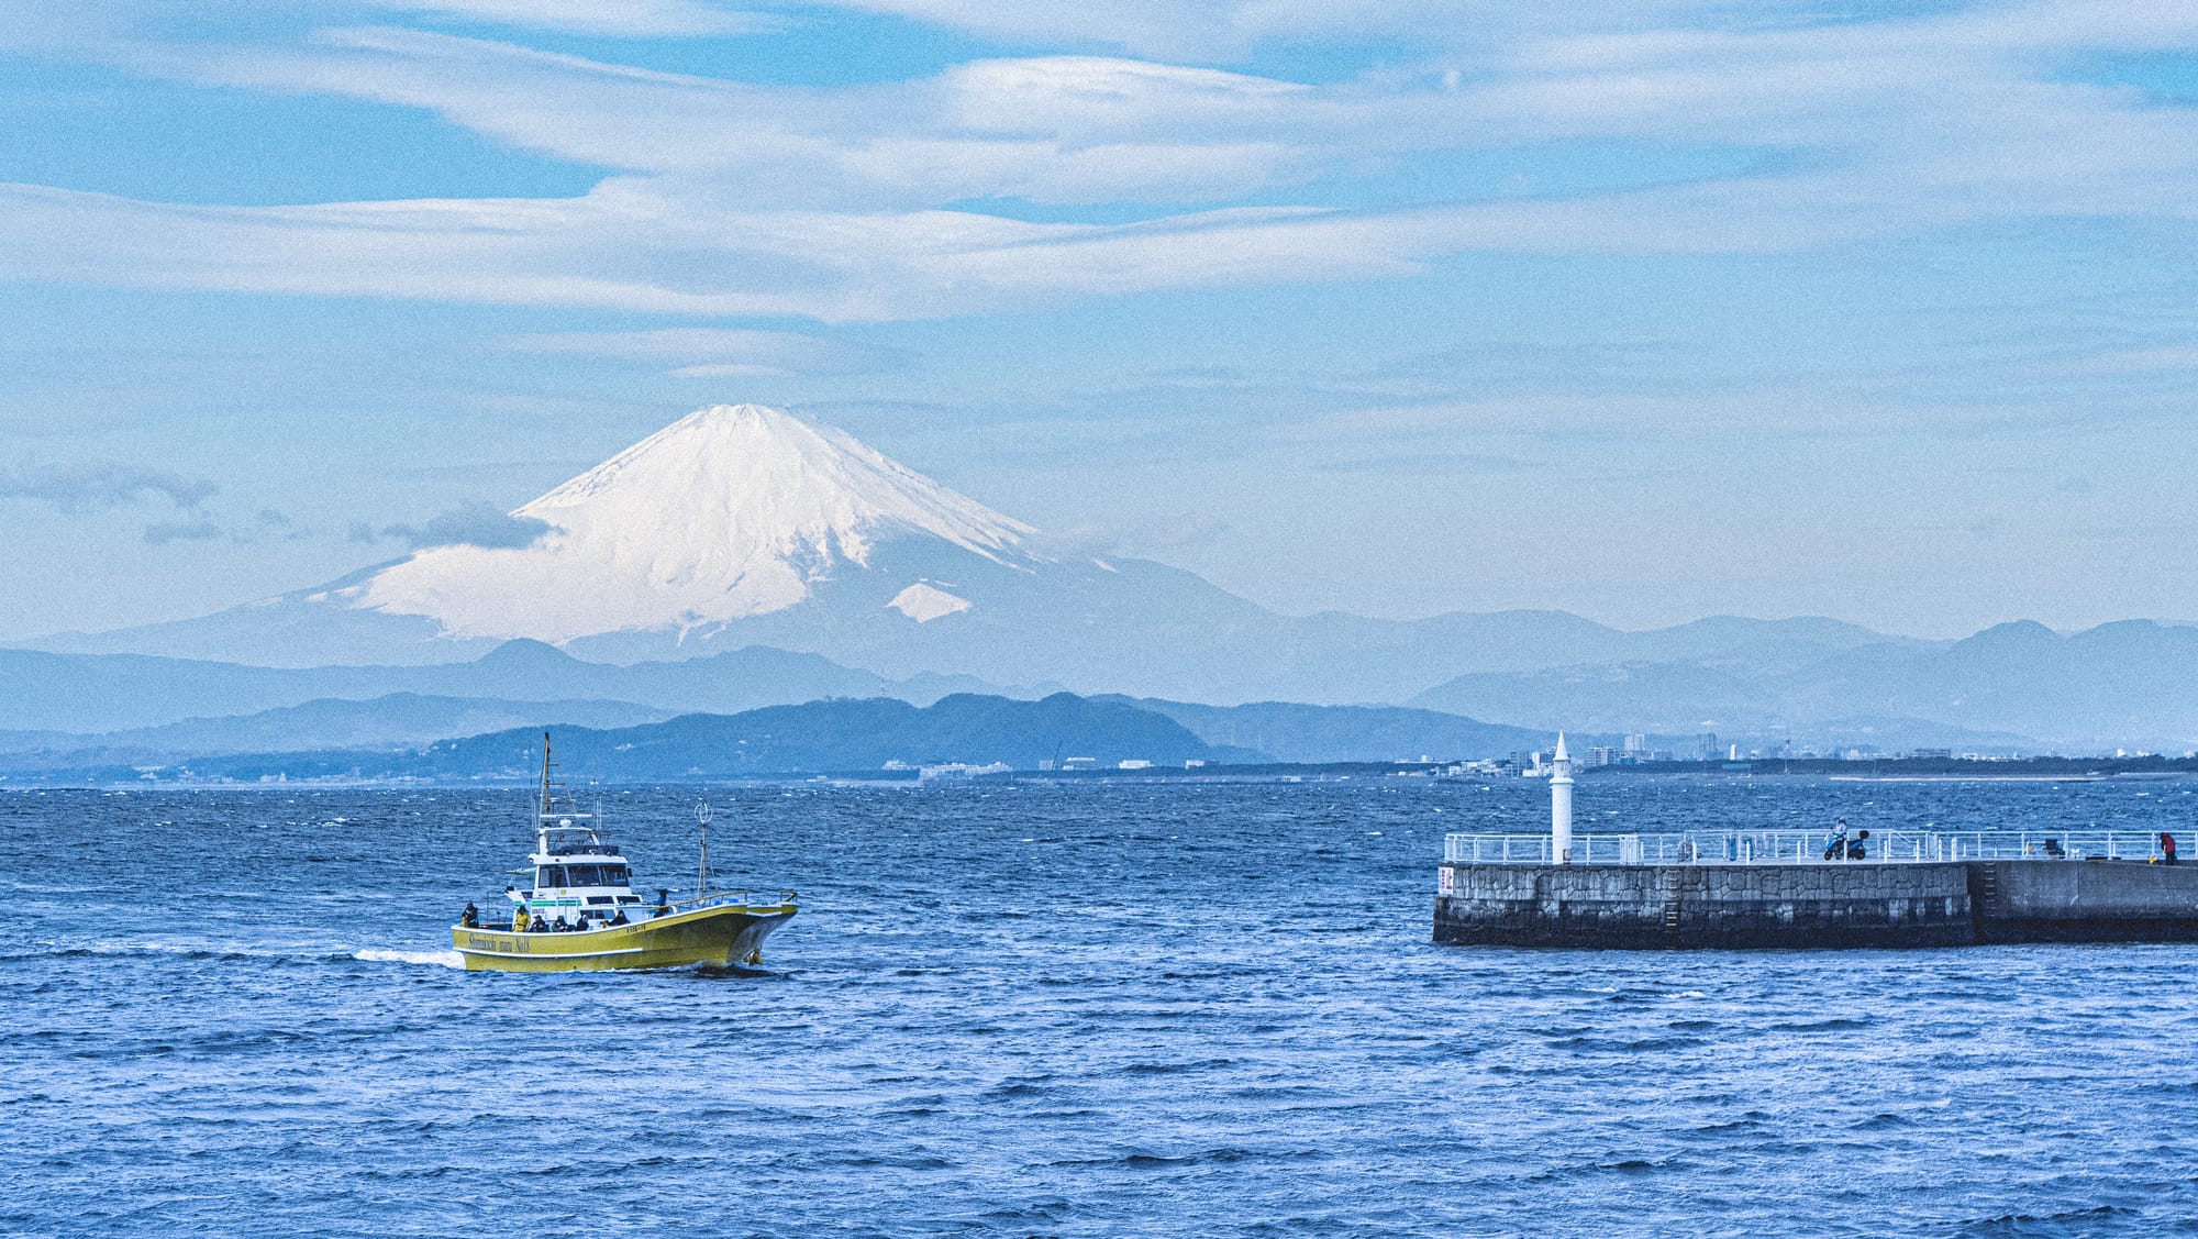
M 0 650 L 0 727 L 266 749 L 248 738 L 418 743 L 435 727 L 1070 690 L 1275 756 L 1468 756 L 1558 727 L 1750 747 L 2198 745 L 2198 628 L 2183 624 L 1921 641 L 1822 617 L 1651 633 L 1561 611 L 1292 617 L 1150 560 L 1053 551 L 840 431 L 761 406 L 684 417 L 506 521 L 209 617 Z M 328 705 L 393 694 L 446 701 L 347 721 Z M 268 718 L 138 734 L 306 703 L 317 714 L 288 732 Z

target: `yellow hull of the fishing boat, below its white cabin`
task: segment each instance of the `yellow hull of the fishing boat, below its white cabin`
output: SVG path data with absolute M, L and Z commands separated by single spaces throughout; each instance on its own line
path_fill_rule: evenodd
M 758 962 L 763 940 L 793 918 L 791 903 L 719 905 L 578 934 L 451 927 L 468 971 L 585 973 Z

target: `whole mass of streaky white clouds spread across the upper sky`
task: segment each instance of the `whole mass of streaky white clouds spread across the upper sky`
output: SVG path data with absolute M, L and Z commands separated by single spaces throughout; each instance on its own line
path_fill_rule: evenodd
M 426 108 L 618 174 L 580 198 L 259 209 L 13 187 L 0 189 L 0 272 L 864 321 L 1394 277 L 1475 250 L 1794 253 L 1994 222 L 2198 217 L 2198 112 L 2062 72 L 2095 53 L 2198 48 L 2198 11 L 2172 4 L 2046 0 L 1897 20 L 1824 20 L 1794 4 L 1750 24 L 1699 4 L 1539 18 L 1385 0 L 1130 2 L 1068 18 L 978 0 L 855 7 L 1134 48 L 1161 46 L 1150 37 L 1169 29 L 1215 46 L 1347 29 L 1411 40 L 1420 59 L 1299 83 L 1068 55 L 791 88 L 402 29 L 220 53 L 158 46 L 136 64 Z M 1479 42 L 1444 33 L 1455 29 Z M 1761 158 L 1543 198 L 1488 187 L 1411 209 L 1229 206 L 1440 152 L 1536 143 Z M 1037 224 L 969 211 L 972 200 L 1141 204 L 1156 215 Z M 800 369 L 787 354 L 752 356 L 791 343 L 725 347 L 732 356 L 662 360 L 690 376 Z

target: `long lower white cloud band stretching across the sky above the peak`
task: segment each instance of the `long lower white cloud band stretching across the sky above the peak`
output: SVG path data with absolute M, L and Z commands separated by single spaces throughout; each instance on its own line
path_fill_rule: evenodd
M 1596 200 L 1376 213 L 1235 209 L 1121 226 L 967 211 L 743 211 L 653 180 L 607 180 L 569 200 L 334 206 L 169 206 L 0 187 L 0 275 L 888 321 L 1068 297 L 1394 277 L 1464 250 L 1780 253 L 2024 213 L 2132 209 L 2106 180 L 2035 187 L 2024 202 L 1989 193 L 1989 178 L 1936 196 L 1903 198 L 1903 187 L 1820 174 Z M 2187 220 L 2198 196 L 2161 193 L 2143 209 Z

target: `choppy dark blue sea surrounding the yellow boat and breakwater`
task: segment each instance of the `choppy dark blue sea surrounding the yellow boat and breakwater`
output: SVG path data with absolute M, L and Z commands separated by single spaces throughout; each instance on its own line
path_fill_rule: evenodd
M 2187 830 L 2191 786 L 1580 804 Z M 1442 833 L 1525 782 L 710 795 L 719 872 L 802 892 L 778 975 L 455 969 L 523 793 L 0 795 L 0 1232 L 2198 1232 L 2198 949 L 1431 945 Z M 644 879 L 692 883 L 692 797 L 611 793 Z

